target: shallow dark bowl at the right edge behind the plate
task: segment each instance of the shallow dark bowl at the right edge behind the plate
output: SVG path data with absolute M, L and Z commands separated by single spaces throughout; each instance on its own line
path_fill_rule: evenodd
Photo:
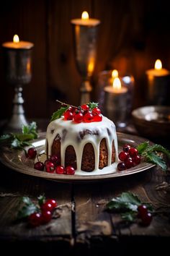
M 135 128 L 147 138 L 169 140 L 170 106 L 143 106 L 132 111 Z

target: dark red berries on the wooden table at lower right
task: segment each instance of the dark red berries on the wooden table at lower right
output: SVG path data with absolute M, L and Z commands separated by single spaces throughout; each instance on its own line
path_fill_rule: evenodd
M 146 205 L 138 206 L 138 218 L 140 218 L 141 224 L 143 226 L 150 225 L 152 221 L 152 215 L 148 212 L 148 208 L 146 207 Z

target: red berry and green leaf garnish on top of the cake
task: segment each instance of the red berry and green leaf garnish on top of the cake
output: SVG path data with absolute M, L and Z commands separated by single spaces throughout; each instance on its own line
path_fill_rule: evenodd
M 58 102 L 62 106 L 58 111 L 53 113 L 50 121 L 59 119 L 62 116 L 65 121 L 72 120 L 77 124 L 81 122 L 102 121 L 102 114 L 98 107 L 99 103 L 90 102 L 77 107 L 61 101 Z

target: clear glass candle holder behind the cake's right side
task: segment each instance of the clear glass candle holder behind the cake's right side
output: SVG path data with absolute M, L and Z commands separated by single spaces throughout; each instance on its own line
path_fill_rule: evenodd
M 102 71 L 98 77 L 98 102 L 104 116 L 114 121 L 116 127 L 126 127 L 133 108 L 134 77 L 131 74 L 118 74 L 121 88 L 113 88 L 116 77 L 112 70 Z

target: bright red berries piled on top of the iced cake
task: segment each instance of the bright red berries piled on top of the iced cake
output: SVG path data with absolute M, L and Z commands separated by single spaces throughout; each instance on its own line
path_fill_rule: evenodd
M 69 106 L 63 114 L 64 120 L 73 120 L 75 123 L 91 123 L 92 121 L 102 121 L 101 111 L 98 107 L 90 108 L 88 104 L 78 108 Z

